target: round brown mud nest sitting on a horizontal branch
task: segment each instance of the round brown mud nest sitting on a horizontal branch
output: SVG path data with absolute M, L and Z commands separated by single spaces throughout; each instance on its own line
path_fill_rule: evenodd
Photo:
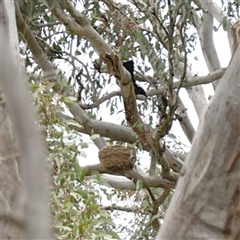
M 130 170 L 136 160 L 136 150 L 120 145 L 107 146 L 98 152 L 100 162 L 111 170 Z

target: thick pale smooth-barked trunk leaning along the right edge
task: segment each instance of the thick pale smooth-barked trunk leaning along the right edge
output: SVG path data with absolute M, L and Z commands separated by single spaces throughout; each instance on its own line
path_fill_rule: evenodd
M 240 48 L 195 135 L 156 239 L 240 239 Z

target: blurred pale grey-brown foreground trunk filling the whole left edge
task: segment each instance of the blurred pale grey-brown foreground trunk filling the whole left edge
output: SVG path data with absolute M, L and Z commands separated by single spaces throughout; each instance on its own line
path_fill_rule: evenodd
M 44 146 L 20 70 L 14 1 L 0 1 L 0 236 L 53 239 Z

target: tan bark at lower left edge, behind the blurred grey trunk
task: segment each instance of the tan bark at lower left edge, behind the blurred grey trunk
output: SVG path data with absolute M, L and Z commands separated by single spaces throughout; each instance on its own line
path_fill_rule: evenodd
M 23 214 L 19 155 L 12 122 L 2 93 L 0 100 L 0 236 L 1 239 L 19 239 L 22 237 L 22 222 L 18 216 Z

